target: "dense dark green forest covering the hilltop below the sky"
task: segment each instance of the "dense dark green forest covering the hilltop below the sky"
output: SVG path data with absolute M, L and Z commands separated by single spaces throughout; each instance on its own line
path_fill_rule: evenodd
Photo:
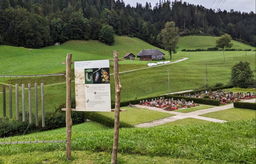
M 162 47 L 161 29 L 174 21 L 182 35 L 224 33 L 255 46 L 255 13 L 212 10 L 182 1 L 136 7 L 123 0 L 0 0 L 0 44 L 39 48 L 71 39 L 99 39 L 104 25 L 117 35 Z

